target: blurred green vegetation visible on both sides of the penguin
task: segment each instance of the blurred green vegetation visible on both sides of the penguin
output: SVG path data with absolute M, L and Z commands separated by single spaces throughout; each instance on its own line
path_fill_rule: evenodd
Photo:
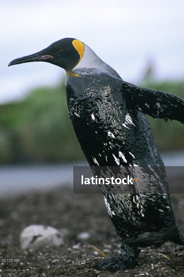
M 147 82 L 143 87 L 184 98 L 184 81 Z M 160 151 L 184 149 L 184 125 L 148 116 Z M 68 115 L 64 80 L 36 88 L 19 102 L 0 106 L 0 164 L 71 162 L 85 159 Z

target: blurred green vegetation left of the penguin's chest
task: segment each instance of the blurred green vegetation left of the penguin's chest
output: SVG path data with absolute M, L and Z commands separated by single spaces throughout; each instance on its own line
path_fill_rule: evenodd
M 85 159 L 69 119 L 64 80 L 0 106 L 0 163 Z

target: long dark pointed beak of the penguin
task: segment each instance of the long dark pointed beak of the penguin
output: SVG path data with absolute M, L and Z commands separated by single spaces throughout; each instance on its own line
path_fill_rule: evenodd
M 32 61 L 48 61 L 48 60 L 52 60 L 54 58 L 51 55 L 40 55 L 41 54 L 40 52 L 35 53 L 33 55 L 29 55 L 29 56 L 25 56 L 25 57 L 22 57 L 22 58 L 12 60 L 8 64 L 8 66 L 11 66 L 11 65 L 14 65 L 14 64 L 29 63 L 29 62 L 32 62 Z

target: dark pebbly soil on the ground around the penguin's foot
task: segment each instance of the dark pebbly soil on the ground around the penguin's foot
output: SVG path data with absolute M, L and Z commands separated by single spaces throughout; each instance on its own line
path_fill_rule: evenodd
M 172 205 L 184 233 L 184 195 L 173 194 Z M 65 245 L 22 251 L 19 236 L 31 224 L 64 229 Z M 90 238 L 77 239 L 80 232 L 89 232 Z M 36 263 L 1 263 L 0 276 L 184 276 L 184 246 L 166 242 L 160 248 L 141 248 L 134 269 L 113 273 L 95 268 L 102 255 L 92 245 L 106 256 L 122 252 L 102 194 L 73 194 L 69 187 L 57 187 L 0 199 L 0 257 L 37 259 Z

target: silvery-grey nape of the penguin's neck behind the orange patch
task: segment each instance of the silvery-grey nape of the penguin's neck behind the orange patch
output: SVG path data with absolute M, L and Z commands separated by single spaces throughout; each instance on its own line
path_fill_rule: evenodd
M 86 44 L 84 44 L 84 53 L 81 60 L 71 72 L 79 75 L 86 75 L 90 72 L 104 72 L 122 80 L 119 74 L 103 60 L 101 60 Z

